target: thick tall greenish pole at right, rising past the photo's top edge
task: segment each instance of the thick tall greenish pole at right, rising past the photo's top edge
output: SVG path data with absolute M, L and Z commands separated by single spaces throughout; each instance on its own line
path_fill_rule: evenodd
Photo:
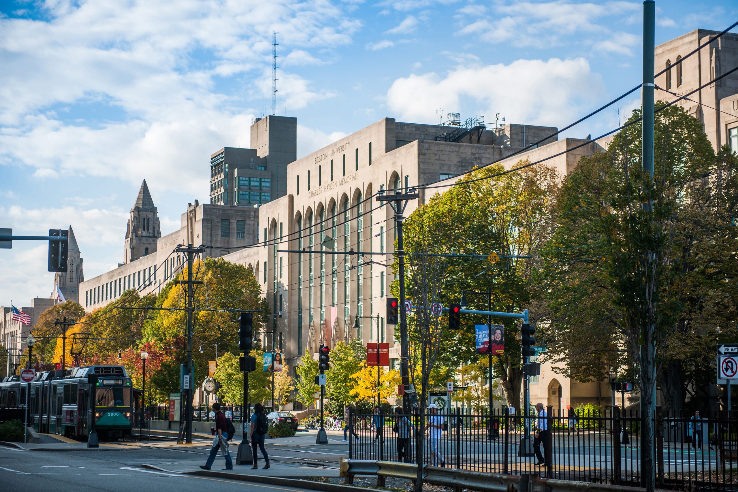
M 643 88 L 641 89 L 641 105 L 643 107 L 643 127 L 641 141 L 641 162 L 643 163 L 644 172 L 649 173 L 653 182 L 653 146 L 654 146 L 654 63 L 655 63 L 655 10 L 656 3 L 654 0 L 644 1 L 644 45 L 643 45 Z M 644 204 L 644 209 L 649 214 L 653 213 L 653 202 L 649 196 L 649 200 Z M 651 218 L 653 221 L 653 218 Z M 649 228 L 650 229 L 650 228 Z M 646 252 L 645 265 L 651 271 L 651 264 L 654 261 L 654 254 Z M 644 288 L 649 289 L 646 285 Z M 646 306 L 646 326 L 641 328 L 641 418 L 644 420 L 644 426 L 641 432 L 641 454 L 642 454 L 642 470 L 644 477 L 646 492 L 652 492 L 656 487 L 653 440 L 655 439 L 654 425 L 652 418 L 655 411 L 655 347 L 654 339 L 654 306 Z

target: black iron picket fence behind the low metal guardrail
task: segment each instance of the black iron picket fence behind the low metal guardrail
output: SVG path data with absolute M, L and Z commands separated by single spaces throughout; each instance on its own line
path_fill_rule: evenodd
M 421 415 L 351 414 L 345 429 L 352 460 L 417 462 L 491 474 L 539 474 L 552 479 L 641 486 L 641 426 L 637 411 L 618 407 L 545 417 L 452 409 Z M 738 415 L 652 419 L 659 488 L 738 490 Z M 408 439 L 396 423 L 412 423 Z M 430 423 L 435 426 L 429 426 Z M 416 433 L 424 429 L 421 439 Z M 440 426 L 440 427 L 438 427 Z M 353 432 L 352 432 L 353 431 Z M 538 448 L 539 454 L 535 452 Z M 407 450 L 407 453 L 405 452 Z M 540 464 L 539 464 L 540 463 Z

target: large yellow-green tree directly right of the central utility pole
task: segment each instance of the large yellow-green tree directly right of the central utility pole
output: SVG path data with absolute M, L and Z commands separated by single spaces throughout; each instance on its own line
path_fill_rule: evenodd
M 554 168 L 542 165 L 515 173 L 505 174 L 504 171 L 501 164 L 475 170 L 463 181 L 479 181 L 457 184 L 416 209 L 405 226 L 405 250 L 410 254 L 408 263 L 411 266 L 426 261 L 415 259 L 422 258 L 423 253 L 486 256 L 497 252 L 500 255 L 497 263 L 490 263 L 486 257 L 445 257 L 438 299 L 448 305 L 458 302 L 462 291 L 491 291 L 492 311 L 509 313 L 527 308 L 531 311 L 531 322 L 536 322 L 541 316 L 543 292 L 534 277 L 534 267 L 540 263 L 535 253 L 553 233 L 548 219 L 554 209 L 559 175 Z M 421 269 L 429 271 L 424 266 Z M 412 288 L 414 274 L 412 268 L 408 271 Z M 422 275 L 418 278 L 422 280 Z M 423 285 L 423 282 L 415 284 Z M 427 297 L 421 289 L 415 291 L 413 295 Z M 469 296 L 467 300 L 470 306 L 480 309 L 488 305 L 486 296 Z M 443 327 L 447 326 L 446 320 L 444 316 Z M 520 407 L 523 381 L 518 337 L 520 323 L 507 318 L 493 322 L 505 326 L 505 353 L 494 358 L 493 370 L 502 381 L 508 403 Z M 447 375 L 452 367 L 471 360 L 475 356 L 474 325 L 486 323 L 486 316 L 465 314 L 462 330 L 453 333 L 440 330 L 435 370 Z M 410 339 L 421 337 L 421 333 L 429 329 L 428 325 L 428 322 L 411 322 Z

